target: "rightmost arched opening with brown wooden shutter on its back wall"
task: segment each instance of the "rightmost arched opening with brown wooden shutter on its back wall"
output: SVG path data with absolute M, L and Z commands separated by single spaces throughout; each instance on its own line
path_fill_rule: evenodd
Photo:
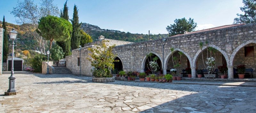
M 239 49 L 239 48 L 238 48 Z M 232 61 L 231 61 L 232 62 Z M 249 43 L 241 47 L 234 56 L 233 67 L 237 69 L 238 65 L 245 65 L 245 78 L 255 77 L 252 71 L 256 68 L 256 43 Z M 250 71 L 250 69 L 252 71 Z M 237 78 L 237 71 L 234 70 L 234 78 Z

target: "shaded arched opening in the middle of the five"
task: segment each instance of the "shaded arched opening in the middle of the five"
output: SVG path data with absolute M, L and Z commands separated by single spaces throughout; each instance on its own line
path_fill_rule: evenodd
M 171 69 L 175 69 L 173 66 L 176 64 L 176 63 L 179 63 L 181 64 L 181 74 L 183 74 L 182 70 L 185 70 L 186 68 L 190 68 L 190 61 L 189 61 L 189 58 L 187 57 L 187 54 L 182 52 L 182 56 L 180 57 L 180 54 L 179 54 L 179 50 L 176 50 L 175 52 L 173 52 L 173 56 L 172 54 L 170 53 L 170 55 L 168 56 L 167 58 L 167 69 L 166 69 L 166 74 L 172 74 L 171 73 Z M 176 63 L 174 60 L 172 60 L 173 57 L 176 57 L 177 60 L 176 60 Z M 174 62 L 174 65 L 173 65 L 173 62 Z M 166 65 L 166 64 L 165 64 Z M 178 72 L 177 72 L 178 73 Z M 183 74 L 183 76 L 188 76 L 187 74 Z

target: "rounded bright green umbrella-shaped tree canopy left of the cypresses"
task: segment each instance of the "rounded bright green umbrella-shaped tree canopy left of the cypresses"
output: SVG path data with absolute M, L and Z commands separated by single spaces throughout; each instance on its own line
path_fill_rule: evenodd
M 54 39 L 56 41 L 66 41 L 70 37 L 71 31 L 71 23 L 55 16 L 47 16 L 39 19 L 38 29 L 36 29 L 36 32 L 40 36 L 50 41 L 49 50 L 52 49 L 52 41 Z

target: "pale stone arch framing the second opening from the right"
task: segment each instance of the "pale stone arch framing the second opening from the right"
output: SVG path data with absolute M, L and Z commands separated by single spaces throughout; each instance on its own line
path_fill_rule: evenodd
M 220 53 L 225 57 L 226 62 L 229 63 L 229 58 L 228 58 L 227 53 L 226 53 L 225 51 L 221 50 L 220 47 L 215 46 L 215 45 L 212 45 L 212 44 L 209 44 L 208 47 L 212 47 L 212 48 L 214 48 L 214 49 L 220 51 Z M 206 46 L 204 46 L 204 47 L 202 48 L 202 50 L 205 50 L 205 49 L 206 49 Z M 193 65 L 194 67 L 196 67 L 196 61 L 197 61 L 197 59 L 198 59 L 198 57 L 199 57 L 199 54 L 202 52 L 202 50 L 198 50 L 198 51 L 196 52 L 196 55 L 195 55 L 194 58 L 193 58 L 193 64 L 192 64 L 192 65 Z M 230 64 L 227 64 L 227 65 L 230 65 Z

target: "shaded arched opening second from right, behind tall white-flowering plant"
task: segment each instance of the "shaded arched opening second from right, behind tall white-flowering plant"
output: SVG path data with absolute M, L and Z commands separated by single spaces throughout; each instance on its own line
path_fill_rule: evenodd
M 224 55 L 222 54 L 222 52 L 220 52 L 218 49 L 216 49 L 216 48 L 213 48 L 213 50 L 212 50 L 212 55 L 211 55 L 211 52 L 208 50 L 207 51 L 207 49 L 209 49 L 209 48 L 213 48 L 213 47 L 208 47 L 208 48 L 204 48 L 203 49 L 203 52 L 201 52 L 201 50 L 199 50 L 198 52 L 200 52 L 198 55 L 197 55 L 197 57 L 196 57 L 196 62 L 195 62 L 195 68 L 196 68 L 196 70 L 199 70 L 199 69 L 202 69 L 203 71 L 204 71 L 204 74 L 207 74 L 208 73 L 208 71 L 207 71 L 207 64 L 206 64 L 206 61 L 207 61 L 207 57 L 209 58 L 209 57 L 213 57 L 213 58 L 215 58 L 215 65 L 214 65 L 214 68 L 215 68 L 215 70 L 214 70 L 214 72 L 213 72 L 213 74 L 216 74 L 216 76 L 215 77 L 220 77 L 220 75 L 223 75 L 223 74 L 221 74 L 221 72 L 220 72 L 220 70 L 218 69 L 218 66 L 227 66 L 228 64 L 227 64 L 227 60 L 226 60 L 226 57 L 225 56 L 227 56 L 226 55 L 226 53 L 224 53 Z M 214 52 L 215 51 L 215 52 Z M 207 52 L 208 52 L 208 56 L 207 56 Z M 215 53 L 215 54 L 214 54 Z M 202 54 L 203 54 L 203 58 L 204 58 L 204 62 L 203 62 L 203 58 L 202 58 Z M 204 66 L 205 65 L 205 66 Z M 227 69 L 227 68 L 226 68 Z M 227 71 L 228 70 L 226 70 L 225 71 L 225 74 L 227 74 Z M 203 75 L 204 76 L 204 75 Z

